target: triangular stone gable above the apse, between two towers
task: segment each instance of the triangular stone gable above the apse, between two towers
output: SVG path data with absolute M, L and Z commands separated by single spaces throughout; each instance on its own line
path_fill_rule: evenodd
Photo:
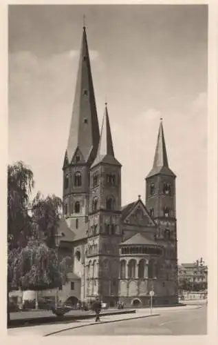
M 141 199 L 122 209 L 122 223 L 135 226 L 157 226 Z

